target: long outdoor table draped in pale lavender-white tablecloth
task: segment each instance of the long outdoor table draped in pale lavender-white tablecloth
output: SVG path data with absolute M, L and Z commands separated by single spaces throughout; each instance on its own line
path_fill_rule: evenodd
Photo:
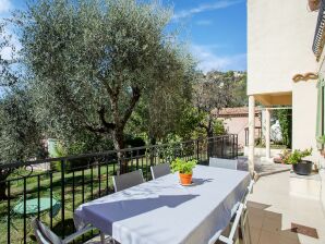
M 74 223 L 122 244 L 207 243 L 228 225 L 249 182 L 244 171 L 197 166 L 191 186 L 168 174 L 81 205 Z

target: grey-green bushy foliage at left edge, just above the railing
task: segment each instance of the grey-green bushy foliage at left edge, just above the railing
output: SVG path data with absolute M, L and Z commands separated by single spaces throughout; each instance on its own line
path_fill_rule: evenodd
M 0 162 L 45 157 L 29 90 L 12 87 L 0 100 Z

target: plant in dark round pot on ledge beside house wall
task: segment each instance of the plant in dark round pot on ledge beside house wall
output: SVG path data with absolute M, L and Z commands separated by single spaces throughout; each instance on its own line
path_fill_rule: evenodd
M 284 162 L 287 164 L 292 164 L 294 173 L 301 175 L 309 175 L 313 169 L 313 162 L 309 160 L 303 160 L 304 157 L 312 155 L 312 148 L 305 150 L 293 150 L 292 152 L 284 152 Z

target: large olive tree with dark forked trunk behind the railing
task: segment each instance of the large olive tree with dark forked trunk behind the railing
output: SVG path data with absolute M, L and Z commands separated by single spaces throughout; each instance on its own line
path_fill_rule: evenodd
M 157 87 L 165 99 L 189 82 L 192 65 L 166 28 L 170 17 L 170 9 L 147 1 L 31 4 L 16 23 L 38 119 L 58 137 L 88 131 L 122 149 L 140 99 Z

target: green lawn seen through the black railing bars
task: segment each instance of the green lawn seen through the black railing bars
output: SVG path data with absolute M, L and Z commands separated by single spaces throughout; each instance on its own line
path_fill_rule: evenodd
M 112 182 L 111 175 L 112 166 L 108 167 L 108 174 L 106 173 L 106 167 L 100 167 L 100 195 L 106 195 L 112 193 Z M 37 172 L 35 172 L 37 174 Z M 40 178 L 40 187 L 39 187 L 39 195 L 40 197 L 50 197 L 50 179 L 49 175 L 45 174 L 39 176 Z M 73 178 L 72 173 L 67 173 L 64 175 L 64 219 L 65 219 L 65 234 L 70 234 L 74 231 L 73 229 L 73 210 L 77 208 L 83 203 L 83 195 L 84 202 L 89 202 L 91 199 L 95 199 L 99 197 L 99 179 L 98 179 L 98 168 L 93 170 L 93 181 L 92 181 L 92 170 L 84 171 L 84 184 L 82 184 L 82 172 L 79 171 L 74 175 L 74 190 L 72 187 Z M 27 199 L 28 198 L 37 198 L 38 192 L 38 181 L 37 176 L 28 178 L 26 181 L 27 185 Z M 11 184 L 11 209 L 22 200 L 22 192 L 23 192 L 23 181 L 15 181 Z M 60 200 L 61 197 L 61 173 L 53 173 L 52 174 L 52 192 L 53 197 L 57 197 Z M 84 188 L 83 188 L 84 186 Z M 74 204 L 73 204 L 73 191 L 74 191 Z M 84 192 L 84 194 L 83 194 Z M 7 242 L 7 202 L 0 203 L 0 243 Z M 52 219 L 53 230 L 56 233 L 62 233 L 62 208 L 59 213 Z M 11 224 L 11 243 L 20 243 L 23 239 L 23 217 L 19 215 L 11 216 L 12 224 Z M 50 225 L 50 217 L 48 212 L 41 213 L 40 218 L 45 223 Z M 27 219 L 27 231 L 29 231 L 29 220 Z M 28 234 L 27 241 L 33 243 L 31 235 Z

